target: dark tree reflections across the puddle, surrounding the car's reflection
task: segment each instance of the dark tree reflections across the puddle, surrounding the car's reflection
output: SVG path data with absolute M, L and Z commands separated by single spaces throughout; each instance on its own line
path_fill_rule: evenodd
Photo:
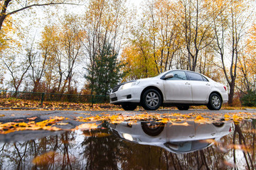
M 0 144 L 0 169 L 227 169 L 223 161 L 253 169 L 255 133 L 246 130 L 255 130 L 255 122 L 234 125 L 233 132 L 221 139 L 225 148 L 232 144 L 250 145 L 250 152 L 232 148 L 224 153 L 217 146 L 210 146 L 188 154 L 175 154 L 160 147 L 126 142 L 113 135 L 97 137 L 97 132 L 110 132 L 105 129 L 92 132 L 89 137 L 65 132 L 40 140 Z M 48 164 L 31 163 L 49 151 L 55 154 Z

